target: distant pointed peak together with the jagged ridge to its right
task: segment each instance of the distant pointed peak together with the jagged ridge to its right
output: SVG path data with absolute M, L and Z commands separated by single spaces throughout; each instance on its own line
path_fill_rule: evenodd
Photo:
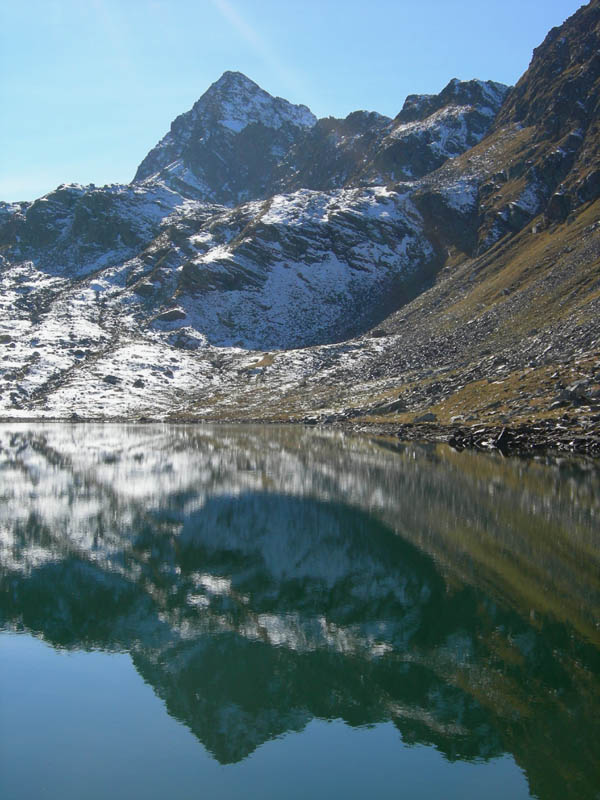
M 506 92 L 493 81 L 453 80 L 438 95 L 409 98 L 394 120 L 355 111 L 317 121 L 304 106 L 226 72 L 177 117 L 134 182 L 160 176 L 192 197 L 235 204 L 418 178 L 480 141 Z

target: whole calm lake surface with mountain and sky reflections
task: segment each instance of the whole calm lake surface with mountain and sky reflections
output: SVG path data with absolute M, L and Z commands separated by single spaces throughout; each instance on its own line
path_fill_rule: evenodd
M 600 471 L 0 425 L 0 795 L 600 797 Z

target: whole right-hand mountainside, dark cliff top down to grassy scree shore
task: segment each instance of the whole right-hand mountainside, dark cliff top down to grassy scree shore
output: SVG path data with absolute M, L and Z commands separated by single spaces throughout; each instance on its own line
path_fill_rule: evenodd
M 190 416 L 406 423 L 430 412 L 441 424 L 518 424 L 568 411 L 586 435 L 598 429 L 599 43 L 592 0 L 535 51 L 494 130 L 427 178 L 416 202 L 446 260 L 431 288 L 377 326 L 377 346 L 367 334 L 346 353 L 256 354 L 259 376 L 230 373 L 222 394 L 191 400 Z M 464 230 L 438 202 L 462 182 L 478 187 Z M 535 218 L 519 207 L 524 193 L 537 196 Z M 581 379 L 591 403 L 551 408 Z M 378 410 L 390 401 L 402 408 Z

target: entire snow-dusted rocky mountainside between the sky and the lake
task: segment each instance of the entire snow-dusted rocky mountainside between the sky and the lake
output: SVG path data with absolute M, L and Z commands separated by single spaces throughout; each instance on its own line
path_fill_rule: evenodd
M 393 120 L 317 121 L 225 73 L 129 186 L 0 204 L 1 413 L 567 412 L 589 438 L 599 19 L 510 91 L 453 80 Z

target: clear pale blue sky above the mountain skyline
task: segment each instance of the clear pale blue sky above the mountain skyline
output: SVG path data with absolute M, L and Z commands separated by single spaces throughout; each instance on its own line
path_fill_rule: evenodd
M 317 116 L 514 83 L 578 0 L 4 0 L 0 199 L 131 180 L 227 69 Z

